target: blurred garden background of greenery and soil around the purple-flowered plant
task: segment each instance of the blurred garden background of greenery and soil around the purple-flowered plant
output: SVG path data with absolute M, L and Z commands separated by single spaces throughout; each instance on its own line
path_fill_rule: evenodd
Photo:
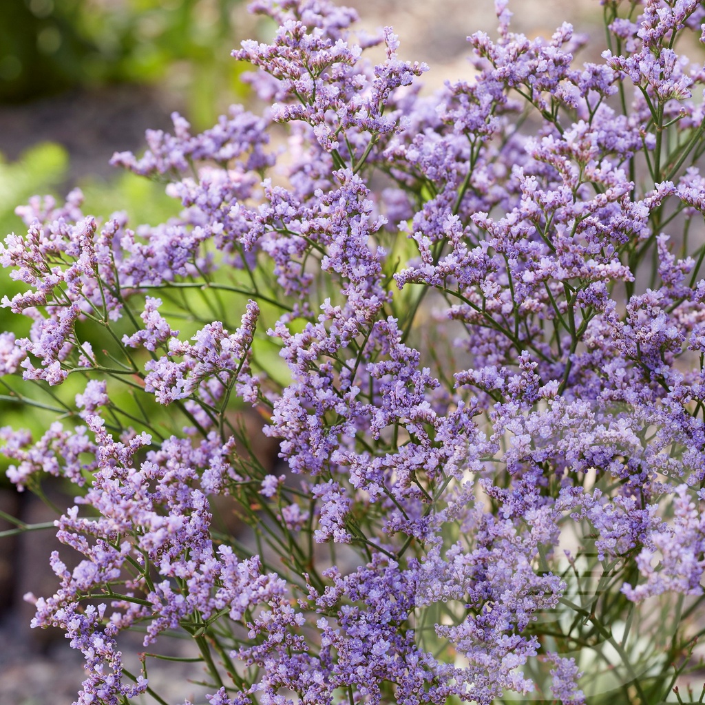
M 493 0 L 345 4 L 357 8 L 368 32 L 394 27 L 403 58 L 431 66 L 424 77 L 429 89 L 467 75 L 465 37 L 495 27 Z M 510 8 L 515 30 L 550 36 L 569 21 L 595 37 L 584 57 L 599 54 L 599 0 L 517 0 Z M 23 228 L 13 213 L 17 204 L 34 194 L 61 197 L 75 186 L 85 193 L 85 212 L 108 216 L 124 209 L 132 223 L 166 219 L 176 204 L 163 186 L 115 173 L 111 154 L 140 149 L 145 129 L 168 129 L 174 110 L 203 129 L 232 102 L 251 103 L 239 80 L 248 67 L 230 51 L 240 39 L 264 39 L 273 30 L 249 16 L 240 0 L 0 0 L 0 236 Z M 16 290 L 0 272 L 0 294 Z M 13 318 L 0 309 L 0 330 L 19 333 Z M 0 426 L 4 419 L 35 433 L 44 420 L 0 400 Z M 71 501 L 61 486 L 44 489 L 58 505 Z M 0 511 L 30 524 L 54 518 L 4 479 Z M 10 527 L 0 520 L 0 531 Z M 54 591 L 52 548 L 51 529 L 0 538 L 0 705 L 69 704 L 82 680 L 82 658 L 61 634 L 27 627 L 32 608 L 23 594 Z M 188 693 L 180 685 L 157 689 L 183 702 Z

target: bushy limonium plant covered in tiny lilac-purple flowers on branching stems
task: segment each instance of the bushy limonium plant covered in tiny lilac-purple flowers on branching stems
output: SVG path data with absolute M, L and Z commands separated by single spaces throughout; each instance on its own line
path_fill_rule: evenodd
M 705 68 L 682 52 L 705 11 L 601 9 L 583 63 L 570 25 L 529 39 L 497 0 L 431 94 L 390 28 L 257 0 L 279 29 L 233 56 L 269 107 L 114 157 L 178 218 L 18 209 L 3 398 L 55 420 L 1 438 L 18 489 L 76 495 L 75 560 L 27 599 L 85 656 L 79 705 L 166 705 L 149 668 L 178 636 L 211 705 L 682 701 L 705 568 Z

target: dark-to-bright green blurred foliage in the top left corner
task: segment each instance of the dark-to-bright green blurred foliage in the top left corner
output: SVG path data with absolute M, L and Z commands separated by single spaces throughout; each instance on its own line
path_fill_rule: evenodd
M 0 0 L 0 103 L 111 82 L 171 85 L 197 127 L 239 99 L 240 0 Z

